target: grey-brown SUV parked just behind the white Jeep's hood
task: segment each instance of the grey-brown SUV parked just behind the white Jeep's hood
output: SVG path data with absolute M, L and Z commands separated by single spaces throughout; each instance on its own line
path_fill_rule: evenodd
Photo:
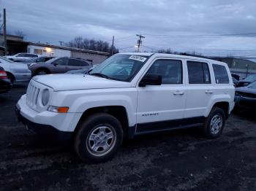
M 31 63 L 32 75 L 63 74 L 69 70 L 90 69 L 91 63 L 81 58 L 57 57 L 46 62 Z

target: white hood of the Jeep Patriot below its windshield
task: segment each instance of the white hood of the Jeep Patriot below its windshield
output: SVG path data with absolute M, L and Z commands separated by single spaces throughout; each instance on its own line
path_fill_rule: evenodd
M 33 77 L 33 80 L 53 87 L 55 91 L 131 87 L 129 82 L 85 74 L 48 74 Z

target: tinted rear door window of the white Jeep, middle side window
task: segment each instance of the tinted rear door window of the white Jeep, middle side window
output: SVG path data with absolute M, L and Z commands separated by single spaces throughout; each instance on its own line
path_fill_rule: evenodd
M 187 61 L 189 84 L 210 84 L 211 77 L 207 63 Z

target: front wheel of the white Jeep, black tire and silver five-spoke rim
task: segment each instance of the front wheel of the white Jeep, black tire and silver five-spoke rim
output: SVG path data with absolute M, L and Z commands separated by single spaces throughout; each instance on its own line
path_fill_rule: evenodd
M 112 135 L 112 138 L 111 138 Z M 86 163 L 110 160 L 123 142 L 121 123 L 110 114 L 93 114 L 75 133 L 75 152 Z

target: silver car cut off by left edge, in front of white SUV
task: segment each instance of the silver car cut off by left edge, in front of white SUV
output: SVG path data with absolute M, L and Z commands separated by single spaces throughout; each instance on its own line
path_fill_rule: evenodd
M 26 82 L 31 79 L 31 71 L 26 63 L 15 63 L 0 56 L 0 66 L 7 72 L 7 77 L 13 82 Z

